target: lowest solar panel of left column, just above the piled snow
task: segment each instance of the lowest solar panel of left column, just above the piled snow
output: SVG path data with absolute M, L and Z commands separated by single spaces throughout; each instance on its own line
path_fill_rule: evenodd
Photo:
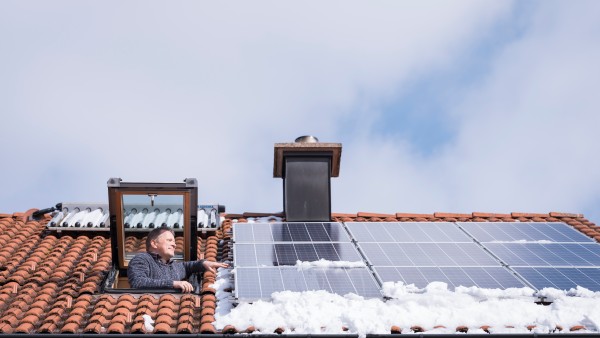
M 292 267 L 236 268 L 236 298 L 268 300 L 273 292 L 325 290 L 365 298 L 379 298 L 381 291 L 366 268 L 298 270 Z

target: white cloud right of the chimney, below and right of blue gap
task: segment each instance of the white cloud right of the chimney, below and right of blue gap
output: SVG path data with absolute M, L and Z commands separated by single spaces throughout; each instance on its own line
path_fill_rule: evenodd
M 381 164 L 380 175 L 352 188 L 365 196 L 352 207 L 365 209 L 373 201 L 371 209 L 380 203 L 379 209 L 388 212 L 585 211 L 600 216 L 592 208 L 600 197 L 600 173 L 594 170 L 600 160 L 593 155 L 600 144 L 595 93 L 600 71 L 594 66 L 600 58 L 600 25 L 592 14 L 597 8 L 589 5 L 597 6 L 538 3 L 523 36 L 495 55 L 482 83 L 449 107 L 446 113 L 459 121 L 457 134 L 438 156 L 423 160 L 381 140 L 361 141 L 362 150 L 346 153 Z M 351 174 L 348 180 L 357 179 L 361 169 Z M 369 185 L 379 186 L 378 202 Z

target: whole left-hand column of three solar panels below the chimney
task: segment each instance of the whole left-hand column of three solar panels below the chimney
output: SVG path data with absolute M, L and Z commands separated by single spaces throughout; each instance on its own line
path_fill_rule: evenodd
M 240 300 L 269 299 L 273 292 L 326 290 L 380 298 L 367 269 L 303 270 L 297 261 L 363 261 L 340 223 L 252 223 L 234 226 L 235 292 Z

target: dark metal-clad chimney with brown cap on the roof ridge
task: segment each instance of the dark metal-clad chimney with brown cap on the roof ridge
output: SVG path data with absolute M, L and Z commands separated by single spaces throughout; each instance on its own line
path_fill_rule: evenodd
M 275 143 L 273 177 L 283 178 L 283 209 L 288 222 L 331 221 L 331 177 L 340 173 L 341 143 L 301 136 Z

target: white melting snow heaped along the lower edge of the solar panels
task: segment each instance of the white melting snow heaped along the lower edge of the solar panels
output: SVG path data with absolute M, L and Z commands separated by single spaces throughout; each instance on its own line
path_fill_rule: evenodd
M 298 265 L 304 268 L 305 263 L 315 262 Z M 456 333 L 458 326 L 468 327 L 468 333 L 484 333 L 483 325 L 489 325 L 492 333 L 548 333 L 554 332 L 557 326 L 568 330 L 576 325 L 586 328 L 578 332 L 600 331 L 600 292 L 584 288 L 544 289 L 535 294 L 530 288 L 457 287 L 450 291 L 442 282 L 431 283 L 423 289 L 398 282 L 384 283 L 387 300 L 365 299 L 354 294 L 340 296 L 322 290 L 283 291 L 273 293 L 270 302 L 241 302 L 234 307 L 230 292 L 233 273 L 232 269 L 219 269 L 214 284 L 219 300 L 215 315 L 217 329 L 230 324 L 238 330 L 254 326 L 262 333 L 283 328 L 284 333 L 360 336 L 387 334 L 394 325 L 403 333 L 411 332 L 413 326 L 420 326 L 429 333 Z M 536 304 L 538 295 L 553 303 Z M 529 331 L 528 326 L 535 327 Z

